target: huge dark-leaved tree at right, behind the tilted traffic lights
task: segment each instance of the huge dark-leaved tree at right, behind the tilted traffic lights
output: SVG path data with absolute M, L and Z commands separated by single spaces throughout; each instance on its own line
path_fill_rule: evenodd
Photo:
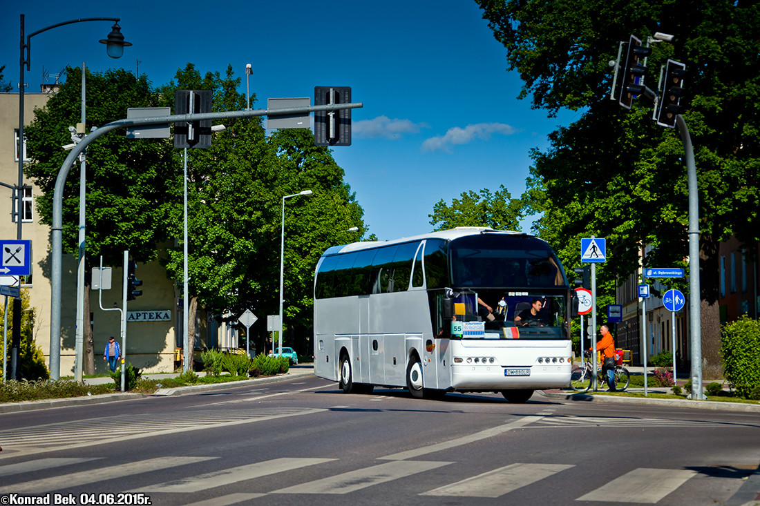
M 683 116 L 692 135 L 699 186 L 702 353 L 705 375 L 720 374 L 717 246 L 736 236 L 756 244 L 760 197 L 760 6 L 756 2 L 602 2 L 478 0 L 483 17 L 507 50 L 509 70 L 524 81 L 521 97 L 554 115 L 580 118 L 534 151 L 529 192 L 543 210 L 536 229 L 556 245 L 581 236 L 607 239 L 605 275 L 637 267 L 679 265 L 688 255 L 688 191 L 676 131 L 651 121 L 640 98 L 631 112 L 609 99 L 618 41 L 634 33 L 672 33 L 648 59 L 649 87 L 667 58 L 686 63 Z M 527 200 L 527 199 L 524 199 Z M 578 249 L 573 251 L 577 257 Z M 566 261 L 568 253 L 562 258 Z M 695 260 L 695 259 L 692 259 Z

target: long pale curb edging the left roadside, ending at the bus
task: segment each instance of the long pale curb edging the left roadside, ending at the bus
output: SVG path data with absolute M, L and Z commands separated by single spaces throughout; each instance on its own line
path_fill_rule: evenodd
M 82 397 L 66 397 L 65 399 L 25 400 L 20 403 L 0 403 L 0 414 L 19 413 L 22 411 L 49 410 L 51 408 L 69 406 L 87 406 L 88 404 L 109 403 L 124 400 L 144 399 L 145 397 L 168 397 L 173 395 L 200 394 L 207 391 L 224 390 L 236 387 L 245 387 L 251 384 L 276 383 L 292 378 L 313 375 L 312 368 L 289 371 L 283 375 L 267 376 L 242 381 L 230 381 L 228 383 L 197 384 L 188 387 L 160 388 L 153 394 L 131 394 L 128 392 L 118 394 L 88 395 Z

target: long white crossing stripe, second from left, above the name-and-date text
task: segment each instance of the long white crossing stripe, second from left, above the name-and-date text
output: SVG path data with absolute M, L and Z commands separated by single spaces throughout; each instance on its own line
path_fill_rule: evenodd
M 71 487 L 89 485 L 90 483 L 103 482 L 108 479 L 121 479 L 131 474 L 149 473 L 167 469 L 169 467 L 184 466 L 204 460 L 213 460 L 219 457 L 159 457 L 155 459 L 138 460 L 117 464 L 116 466 L 101 467 L 81 471 L 79 473 L 62 474 L 49 478 L 35 479 L 30 482 L 17 483 L 0 487 L 0 494 L 43 494 L 55 490 L 68 489 Z

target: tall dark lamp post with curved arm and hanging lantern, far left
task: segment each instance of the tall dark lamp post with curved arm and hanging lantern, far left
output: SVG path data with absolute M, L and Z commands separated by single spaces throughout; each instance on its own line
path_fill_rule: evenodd
M 113 27 L 111 33 L 108 34 L 106 39 L 100 40 L 100 43 L 106 44 L 106 53 L 111 58 L 120 58 L 124 53 L 125 46 L 131 46 L 131 43 L 125 42 L 124 36 L 119 27 L 119 17 L 85 17 L 81 19 L 74 19 L 71 21 L 64 21 L 63 23 L 52 24 L 49 27 L 45 27 L 42 30 L 27 35 L 24 40 L 24 14 L 21 14 L 21 41 L 19 47 L 21 48 L 21 58 L 19 59 L 19 81 L 18 81 L 18 188 L 24 186 L 24 66 L 26 70 L 30 70 L 30 56 L 31 56 L 31 38 L 40 33 L 51 30 L 52 28 L 62 27 L 66 24 L 82 23 L 84 21 L 113 21 Z M 17 204 L 19 209 L 17 213 L 17 232 L 16 239 L 21 239 L 21 196 L 17 198 Z M 21 278 L 19 278 L 19 286 L 21 287 Z M 11 365 L 14 364 L 14 358 L 18 353 L 18 346 L 21 344 L 21 300 L 14 299 L 13 303 L 13 349 L 11 350 Z M 53 356 L 54 350 L 57 350 L 59 356 Z M 50 377 L 53 379 L 59 378 L 60 372 L 60 350 L 59 346 L 50 346 Z M 14 370 L 11 375 L 16 375 Z

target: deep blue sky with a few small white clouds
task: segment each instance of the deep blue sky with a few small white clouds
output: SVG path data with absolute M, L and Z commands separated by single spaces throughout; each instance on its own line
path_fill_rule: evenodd
M 242 77 L 252 65 L 256 108 L 268 98 L 311 96 L 315 86 L 350 86 L 353 144 L 335 147 L 337 163 L 365 210 L 369 232 L 396 239 L 429 232 L 440 199 L 496 190 L 513 197 L 525 187 L 533 147 L 572 120 L 549 119 L 517 100 L 521 81 L 505 68 L 505 49 L 475 2 L 14 2 L 0 17 L 0 65 L 18 81 L 20 16 L 27 35 L 81 17 L 120 17 L 122 59 L 97 43 L 111 23 L 71 24 L 31 40 L 28 92 L 43 71 L 87 63 L 91 71 L 139 68 L 154 84 L 170 81 L 187 62 L 201 73 L 228 64 Z M 49 81 L 53 81 L 49 77 Z M 530 223 L 524 223 L 529 229 Z

